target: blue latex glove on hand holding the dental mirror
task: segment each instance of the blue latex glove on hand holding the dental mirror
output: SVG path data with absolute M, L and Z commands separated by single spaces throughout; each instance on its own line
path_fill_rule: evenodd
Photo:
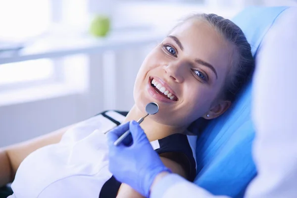
M 128 129 L 133 143 L 126 146 L 113 143 Z M 151 147 L 146 134 L 136 121 L 120 125 L 107 133 L 109 147 L 109 171 L 120 182 L 126 183 L 145 197 L 157 174 L 171 172 Z

